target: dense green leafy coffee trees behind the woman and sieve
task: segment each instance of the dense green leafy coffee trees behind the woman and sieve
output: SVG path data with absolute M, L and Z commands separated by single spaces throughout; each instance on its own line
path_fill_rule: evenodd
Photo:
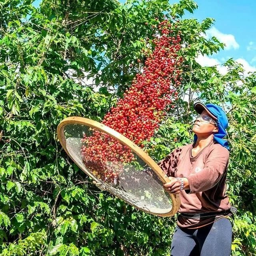
M 40 9 L 31 2 L 0 0 L 0 255 L 170 254 L 175 218 L 100 192 L 56 136 L 67 116 L 102 120 L 143 67 L 146 38 L 164 14 L 181 17 L 184 80 L 177 107 L 145 148 L 158 161 L 190 143 L 194 100 L 223 106 L 228 194 L 238 207 L 232 255 L 255 255 L 256 74 L 244 76 L 232 59 L 225 75 L 196 62 L 223 48 L 202 36 L 214 20 L 183 19 L 197 7 L 191 0 L 44 0 Z

